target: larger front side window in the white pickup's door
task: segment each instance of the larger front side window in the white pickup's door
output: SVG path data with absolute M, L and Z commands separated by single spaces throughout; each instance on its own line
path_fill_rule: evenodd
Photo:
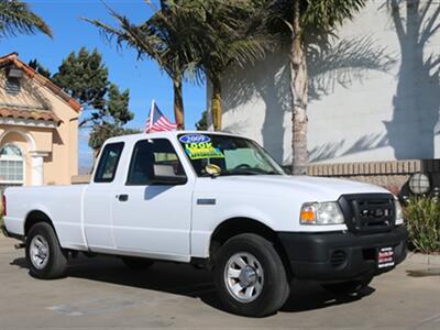
M 155 170 L 167 176 L 185 176 L 184 167 L 168 140 L 139 141 L 133 148 L 127 185 L 148 185 Z

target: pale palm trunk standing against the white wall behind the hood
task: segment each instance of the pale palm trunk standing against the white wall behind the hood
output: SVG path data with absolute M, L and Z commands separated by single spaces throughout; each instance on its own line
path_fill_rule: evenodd
M 294 175 L 307 172 L 308 76 L 306 45 L 301 35 L 299 2 L 296 1 L 290 43 L 292 91 L 292 169 Z

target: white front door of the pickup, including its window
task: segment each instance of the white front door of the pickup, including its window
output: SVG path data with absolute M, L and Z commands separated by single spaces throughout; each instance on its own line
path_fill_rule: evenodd
M 118 250 L 189 260 L 193 185 L 169 140 L 138 141 L 125 185 L 114 193 L 112 219 Z

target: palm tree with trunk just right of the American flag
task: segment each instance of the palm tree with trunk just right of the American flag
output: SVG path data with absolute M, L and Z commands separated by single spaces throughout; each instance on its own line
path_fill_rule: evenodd
M 187 72 L 195 72 L 191 53 L 191 15 L 188 8 L 178 6 L 178 1 L 161 1 L 161 9 L 144 23 L 135 25 L 109 8 L 118 26 L 111 26 L 98 20 L 86 21 L 98 26 L 109 37 L 116 38 L 118 46 L 127 44 L 138 51 L 139 58 L 147 56 L 157 62 L 170 77 L 174 88 L 174 114 L 179 130 L 184 123 L 183 80 Z M 188 1 L 190 2 L 190 1 Z

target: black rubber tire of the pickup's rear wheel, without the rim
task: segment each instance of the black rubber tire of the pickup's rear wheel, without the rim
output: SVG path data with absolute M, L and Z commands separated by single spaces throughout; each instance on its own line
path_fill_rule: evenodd
M 31 249 L 33 241 L 43 239 L 47 243 L 48 251 L 46 262 L 42 266 L 36 266 L 36 262 L 32 261 Z M 32 276 L 43 279 L 52 279 L 63 277 L 67 268 L 67 253 L 63 251 L 54 229 L 46 222 L 34 224 L 26 237 L 26 261 L 30 266 Z

